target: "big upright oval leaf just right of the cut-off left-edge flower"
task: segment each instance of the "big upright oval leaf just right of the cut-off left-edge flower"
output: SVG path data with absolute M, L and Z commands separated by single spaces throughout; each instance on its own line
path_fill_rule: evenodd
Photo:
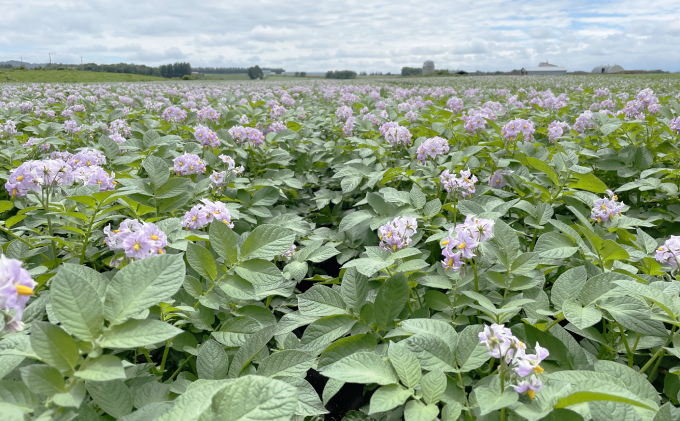
M 52 311 L 67 332 L 84 341 L 98 338 L 104 327 L 106 284 L 100 278 L 97 271 L 72 264 L 62 265 L 52 278 Z

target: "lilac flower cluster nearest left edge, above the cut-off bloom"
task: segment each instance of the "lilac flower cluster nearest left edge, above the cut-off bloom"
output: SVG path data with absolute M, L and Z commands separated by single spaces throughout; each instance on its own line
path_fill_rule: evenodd
M 5 189 L 10 196 L 24 197 L 29 191 L 40 192 L 43 186 L 70 186 L 73 169 L 61 159 L 26 161 L 9 173 Z

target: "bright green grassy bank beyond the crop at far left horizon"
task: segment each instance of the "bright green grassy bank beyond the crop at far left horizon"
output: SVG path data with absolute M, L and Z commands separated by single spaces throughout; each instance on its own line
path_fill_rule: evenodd
M 127 73 L 78 72 L 75 70 L 0 70 L 0 83 L 143 82 L 161 80 L 168 79 Z

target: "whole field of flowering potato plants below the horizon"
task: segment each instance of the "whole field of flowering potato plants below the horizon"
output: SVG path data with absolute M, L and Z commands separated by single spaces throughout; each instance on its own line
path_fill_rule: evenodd
M 0 418 L 679 420 L 679 116 L 645 77 L 4 85 Z

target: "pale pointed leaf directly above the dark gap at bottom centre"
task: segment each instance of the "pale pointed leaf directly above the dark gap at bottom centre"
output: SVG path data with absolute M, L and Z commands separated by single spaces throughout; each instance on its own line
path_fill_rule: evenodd
M 324 368 L 321 374 L 335 380 L 362 384 L 386 385 L 399 381 L 392 366 L 372 351 L 349 355 Z

